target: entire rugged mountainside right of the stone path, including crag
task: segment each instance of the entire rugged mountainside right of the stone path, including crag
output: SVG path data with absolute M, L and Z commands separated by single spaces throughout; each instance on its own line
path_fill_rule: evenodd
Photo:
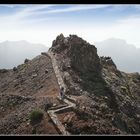
M 69 132 L 139 134 L 139 74 L 120 72 L 110 57 L 99 58 L 95 46 L 76 35 L 61 34 L 49 53 L 66 94 L 77 99 L 75 114 L 64 121 Z

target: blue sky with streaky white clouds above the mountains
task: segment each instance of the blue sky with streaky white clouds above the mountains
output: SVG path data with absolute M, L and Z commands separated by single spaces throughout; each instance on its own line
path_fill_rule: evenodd
M 92 44 L 120 38 L 140 48 L 140 5 L 0 5 L 0 42 L 27 40 L 50 47 L 60 33 Z

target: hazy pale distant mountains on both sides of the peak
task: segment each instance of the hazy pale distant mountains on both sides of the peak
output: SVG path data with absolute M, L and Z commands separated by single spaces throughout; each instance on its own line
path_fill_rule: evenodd
M 140 72 L 140 48 L 125 40 L 111 38 L 95 42 L 99 56 L 111 56 L 118 69 L 124 72 Z M 27 41 L 5 41 L 0 43 L 0 69 L 11 69 L 22 64 L 26 58 L 32 59 L 48 48 L 42 44 Z

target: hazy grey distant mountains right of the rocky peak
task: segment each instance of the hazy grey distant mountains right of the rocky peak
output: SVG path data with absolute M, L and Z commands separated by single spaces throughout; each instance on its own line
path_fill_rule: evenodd
M 95 42 L 99 56 L 111 56 L 118 69 L 125 72 L 140 72 L 140 48 L 125 40 L 111 38 Z

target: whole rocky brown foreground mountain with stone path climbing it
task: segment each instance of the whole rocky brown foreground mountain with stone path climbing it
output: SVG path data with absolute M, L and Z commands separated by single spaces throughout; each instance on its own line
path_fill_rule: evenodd
M 121 72 L 94 45 L 60 34 L 48 52 L 0 70 L 0 133 L 139 134 L 139 87 L 138 73 Z M 43 118 L 32 123 L 34 109 Z

